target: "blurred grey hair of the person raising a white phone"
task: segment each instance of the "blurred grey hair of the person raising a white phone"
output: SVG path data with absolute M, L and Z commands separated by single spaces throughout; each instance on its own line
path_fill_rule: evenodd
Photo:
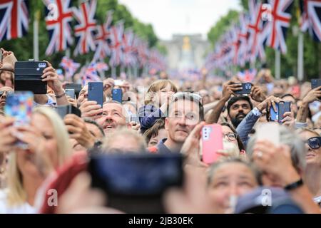
M 297 133 L 288 129 L 287 127 L 280 125 L 280 144 L 288 145 L 291 148 L 291 160 L 295 170 L 302 172 L 305 170 L 305 143 L 300 139 Z M 257 140 L 257 135 L 253 135 L 248 141 L 246 153 L 248 157 L 253 155 L 253 147 Z

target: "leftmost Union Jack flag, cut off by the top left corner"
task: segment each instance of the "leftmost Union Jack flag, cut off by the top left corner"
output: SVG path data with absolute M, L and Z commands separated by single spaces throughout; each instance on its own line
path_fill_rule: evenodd
M 28 3 L 27 0 L 0 1 L 0 41 L 26 34 L 29 29 Z

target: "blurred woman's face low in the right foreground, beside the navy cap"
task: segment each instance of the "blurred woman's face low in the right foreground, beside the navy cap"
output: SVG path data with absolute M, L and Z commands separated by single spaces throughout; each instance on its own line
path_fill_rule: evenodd
M 232 197 L 244 195 L 255 187 L 258 187 L 258 182 L 252 170 L 242 163 L 230 162 L 215 170 L 208 195 L 218 213 L 225 213 L 231 209 Z

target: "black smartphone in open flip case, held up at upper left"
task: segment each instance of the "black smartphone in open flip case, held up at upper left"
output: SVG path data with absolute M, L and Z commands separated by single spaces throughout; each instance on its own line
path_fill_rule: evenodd
M 14 65 L 14 90 L 46 94 L 47 83 L 41 81 L 41 76 L 47 66 L 44 61 L 16 61 Z

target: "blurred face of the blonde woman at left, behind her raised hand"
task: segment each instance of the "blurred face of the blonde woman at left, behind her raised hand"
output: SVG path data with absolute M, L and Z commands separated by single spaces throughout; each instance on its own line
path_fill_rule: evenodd
M 51 165 L 58 167 L 58 145 L 54 135 L 54 128 L 50 121 L 44 115 L 35 113 L 31 117 L 31 125 L 45 138 L 45 150 L 43 152 L 46 153 L 46 157 L 49 158 L 48 160 L 51 162 Z M 44 126 L 46 127 L 44 128 Z M 37 139 L 35 138 L 34 140 Z M 38 174 L 36 161 L 34 153 L 31 153 L 29 150 L 18 149 L 17 163 L 22 174 Z

